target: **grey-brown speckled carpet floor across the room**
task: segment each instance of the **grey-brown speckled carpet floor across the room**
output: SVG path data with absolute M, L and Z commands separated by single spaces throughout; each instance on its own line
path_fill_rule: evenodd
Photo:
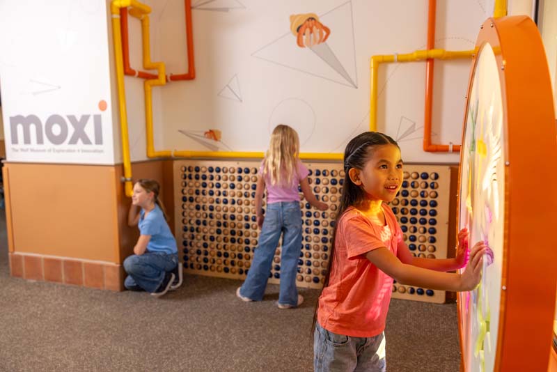
M 146 293 L 9 276 L 0 210 L 0 371 L 312 371 L 317 290 L 299 309 L 235 297 L 240 281 L 185 275 L 159 299 Z M 458 371 L 455 304 L 392 300 L 387 371 Z

